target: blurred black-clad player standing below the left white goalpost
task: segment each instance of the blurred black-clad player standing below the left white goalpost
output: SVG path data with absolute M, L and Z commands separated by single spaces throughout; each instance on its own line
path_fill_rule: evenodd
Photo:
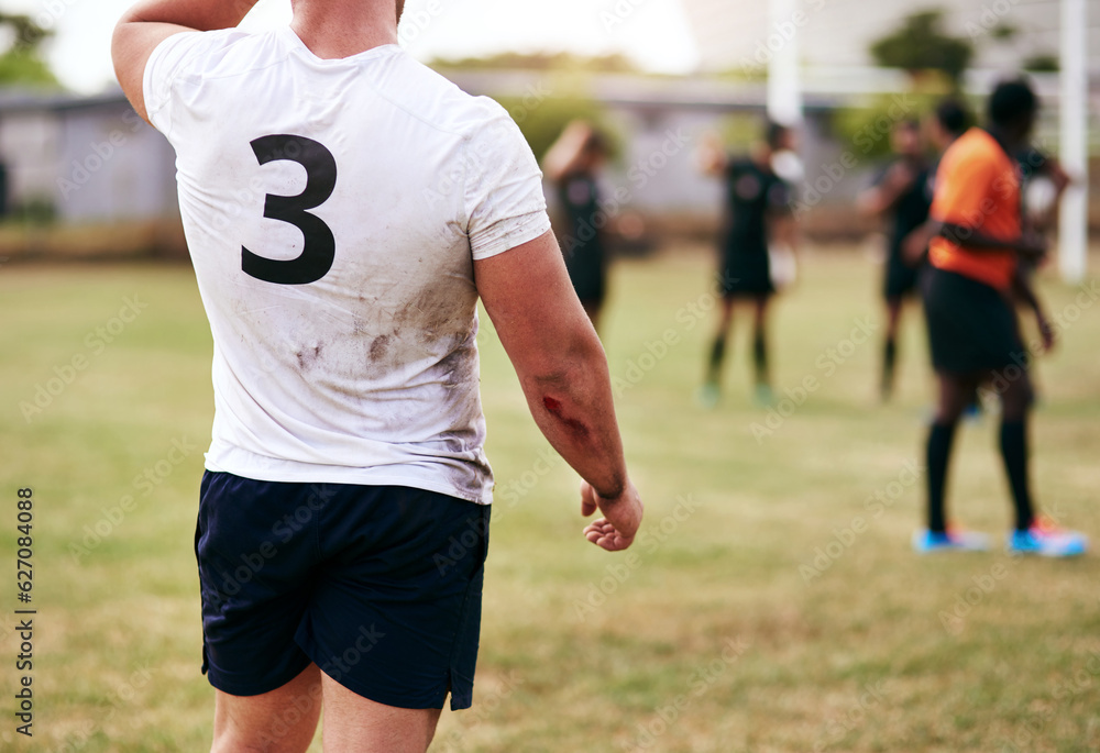
M 721 394 L 722 364 L 739 301 L 752 307 L 752 366 L 757 402 L 771 402 L 771 376 L 768 369 L 768 302 L 776 291 L 769 259 L 769 244 L 795 250 L 795 224 L 791 214 L 791 191 L 772 167 L 780 152 L 793 151 L 793 132 L 778 123 L 768 123 L 765 137 L 746 158 L 732 158 L 722 144 L 712 139 L 698 154 L 700 165 L 726 184 L 726 207 L 719 246 L 718 287 L 722 294 L 718 331 L 711 346 L 706 378 L 700 402 L 717 403 Z

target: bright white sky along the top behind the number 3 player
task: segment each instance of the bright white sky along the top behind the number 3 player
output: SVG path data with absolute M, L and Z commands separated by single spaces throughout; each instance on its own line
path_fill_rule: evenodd
M 72 89 L 113 85 L 111 29 L 132 0 L 0 0 L 55 30 L 50 63 Z M 437 10 L 432 14 L 430 11 Z M 286 23 L 289 0 L 260 0 L 245 24 Z M 657 71 L 685 73 L 698 55 L 679 0 L 407 0 L 402 38 L 418 58 L 506 49 L 623 52 Z

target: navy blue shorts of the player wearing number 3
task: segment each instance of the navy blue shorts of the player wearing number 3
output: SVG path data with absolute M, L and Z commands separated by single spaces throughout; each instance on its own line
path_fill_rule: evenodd
M 469 708 L 490 508 L 393 486 L 202 477 L 202 672 L 234 696 L 309 666 L 387 706 Z

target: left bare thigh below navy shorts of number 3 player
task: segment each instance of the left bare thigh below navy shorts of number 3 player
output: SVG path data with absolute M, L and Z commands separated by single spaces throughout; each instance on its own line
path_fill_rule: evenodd
M 217 691 L 211 753 L 302 753 L 321 712 L 321 673 L 310 664 L 280 688 L 258 696 Z

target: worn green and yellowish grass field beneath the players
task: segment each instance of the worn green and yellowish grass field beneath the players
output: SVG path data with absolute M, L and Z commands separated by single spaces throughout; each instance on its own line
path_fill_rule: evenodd
M 475 705 L 443 715 L 432 751 L 1100 750 L 1100 558 L 910 551 L 931 399 L 917 317 L 898 399 L 879 406 L 877 335 L 856 342 L 881 324 L 877 268 L 811 253 L 776 310 L 785 416 L 749 400 L 744 329 L 724 400 L 703 411 L 708 267 L 681 254 L 614 272 L 604 336 L 647 505 L 629 558 L 582 539 L 578 479 L 484 322 L 497 506 Z M 1049 275 L 1043 287 L 1066 326 L 1037 370 L 1034 486 L 1098 540 L 1100 304 L 1075 308 L 1080 291 Z M 9 265 L 0 317 L 0 750 L 207 750 L 191 532 L 211 346 L 194 277 Z M 24 416 L 38 386 L 45 405 Z M 994 429 L 963 431 L 950 506 L 1000 541 Z M 34 490 L 33 740 L 11 713 L 21 487 Z

